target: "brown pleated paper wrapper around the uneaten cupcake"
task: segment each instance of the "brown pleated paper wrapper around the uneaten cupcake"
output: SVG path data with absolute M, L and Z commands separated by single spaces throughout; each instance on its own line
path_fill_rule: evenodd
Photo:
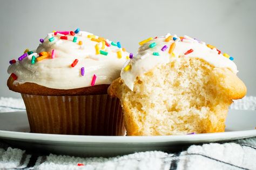
M 123 136 L 123 112 L 109 95 L 22 94 L 33 133 Z

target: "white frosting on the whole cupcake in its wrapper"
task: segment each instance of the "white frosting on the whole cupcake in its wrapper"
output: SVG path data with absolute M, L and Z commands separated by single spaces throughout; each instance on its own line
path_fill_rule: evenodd
M 75 36 L 77 42 L 73 42 L 73 36 L 67 35 L 68 40 L 60 39 L 62 34 L 54 36 L 48 34 L 44 42 L 38 46 L 35 55 L 40 52 L 49 52 L 47 59 L 36 61 L 31 64 L 32 55 L 27 56 L 22 61 L 16 61 L 8 68 L 8 73 L 14 73 L 18 79 L 14 83 L 31 82 L 41 86 L 55 89 L 74 89 L 91 86 L 93 74 L 97 76 L 95 85 L 110 84 L 114 79 L 120 76 L 127 52 L 122 48 L 111 45 L 101 49 L 102 42 L 92 41 L 87 35 L 92 33 L 80 31 Z M 54 37 L 55 40 L 49 41 Z M 98 38 L 96 36 L 96 38 Z M 83 45 L 78 45 L 82 41 Z M 111 44 L 111 41 L 106 40 Z M 97 54 L 95 45 L 99 44 L 102 51 L 108 52 L 107 55 Z M 52 49 L 55 49 L 55 58 L 51 58 Z M 117 51 L 122 52 L 122 58 L 117 57 Z M 78 59 L 75 67 L 71 67 L 72 62 Z M 81 75 L 80 69 L 84 67 L 84 76 Z

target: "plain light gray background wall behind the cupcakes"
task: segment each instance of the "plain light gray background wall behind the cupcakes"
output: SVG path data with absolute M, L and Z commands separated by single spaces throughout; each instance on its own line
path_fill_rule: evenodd
M 53 30 L 81 30 L 121 41 L 129 52 L 153 36 L 184 34 L 217 46 L 233 56 L 238 76 L 254 88 L 256 1 L 3 1 L 0 0 L 0 96 L 20 97 L 8 90 L 9 60 Z

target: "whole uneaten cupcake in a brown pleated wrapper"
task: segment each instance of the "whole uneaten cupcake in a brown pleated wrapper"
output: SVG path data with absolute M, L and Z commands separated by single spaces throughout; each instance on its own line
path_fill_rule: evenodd
M 21 93 L 31 132 L 124 135 L 119 100 L 107 95 L 129 55 L 120 42 L 79 29 L 39 41 L 8 68 L 7 85 Z

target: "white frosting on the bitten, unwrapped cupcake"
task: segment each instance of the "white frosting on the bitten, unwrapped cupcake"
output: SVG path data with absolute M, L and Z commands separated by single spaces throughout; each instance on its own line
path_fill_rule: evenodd
M 146 73 L 157 65 L 169 63 L 171 60 L 179 60 L 178 56 L 180 56 L 180 58 L 200 58 L 215 67 L 230 68 L 234 74 L 237 74 L 237 66 L 233 61 L 226 58 L 222 54 L 218 54 L 216 48 L 211 49 L 205 45 L 205 42 L 199 42 L 188 36 L 184 36 L 183 41 L 180 41 L 178 38 L 175 41 L 176 46 L 173 49 L 174 56 L 169 54 L 170 46 L 174 41 L 170 40 L 169 42 L 166 42 L 165 39 L 168 36 L 169 35 L 167 34 L 165 37 L 152 39 L 151 41 L 146 42 L 139 47 L 136 56 L 125 63 L 124 68 L 127 65 L 131 65 L 131 69 L 124 70 L 123 68 L 121 71 L 121 79 L 124 80 L 126 86 L 131 90 L 133 90 L 134 81 L 136 80 L 137 76 Z M 173 37 L 177 36 L 174 35 Z M 157 45 L 150 48 L 149 45 L 153 42 L 156 42 Z M 161 48 L 163 48 L 165 45 L 167 46 L 167 49 L 165 51 L 161 51 Z M 184 53 L 186 53 L 189 49 L 193 49 L 193 52 L 185 55 Z M 159 56 L 153 55 L 153 52 L 158 52 Z

